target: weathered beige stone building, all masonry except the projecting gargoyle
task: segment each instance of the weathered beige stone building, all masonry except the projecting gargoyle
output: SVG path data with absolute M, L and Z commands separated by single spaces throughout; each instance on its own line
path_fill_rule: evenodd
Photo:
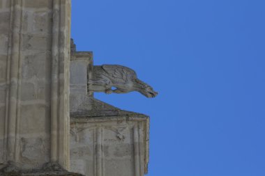
M 0 175 L 147 173 L 149 117 L 94 99 L 92 69 L 70 56 L 70 0 L 0 1 Z

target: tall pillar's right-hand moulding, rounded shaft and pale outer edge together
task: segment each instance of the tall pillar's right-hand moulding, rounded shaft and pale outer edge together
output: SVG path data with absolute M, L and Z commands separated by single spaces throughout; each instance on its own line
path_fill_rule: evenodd
M 69 167 L 70 1 L 53 0 L 51 161 Z

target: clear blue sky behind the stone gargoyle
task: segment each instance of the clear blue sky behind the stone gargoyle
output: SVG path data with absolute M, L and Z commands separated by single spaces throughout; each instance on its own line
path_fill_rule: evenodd
M 265 175 L 264 0 L 73 0 L 94 63 L 131 67 L 159 95 L 96 97 L 151 116 L 148 176 Z

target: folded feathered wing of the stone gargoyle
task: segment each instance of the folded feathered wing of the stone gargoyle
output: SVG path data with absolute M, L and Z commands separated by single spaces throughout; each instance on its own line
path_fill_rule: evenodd
M 102 67 L 113 78 L 113 83 L 123 84 L 137 77 L 135 71 L 122 65 L 102 65 Z

